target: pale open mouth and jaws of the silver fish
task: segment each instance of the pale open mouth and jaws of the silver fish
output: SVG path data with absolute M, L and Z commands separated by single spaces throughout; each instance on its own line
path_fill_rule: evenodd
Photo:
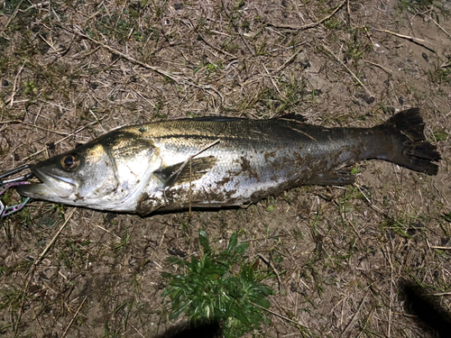
M 59 175 L 51 174 L 49 172 L 42 172 L 38 168 L 30 168 L 36 178 L 41 180 L 41 183 L 31 183 L 17 187 L 17 192 L 22 196 L 32 198 L 46 199 L 53 198 L 68 198 L 77 186 L 70 178 L 63 178 Z

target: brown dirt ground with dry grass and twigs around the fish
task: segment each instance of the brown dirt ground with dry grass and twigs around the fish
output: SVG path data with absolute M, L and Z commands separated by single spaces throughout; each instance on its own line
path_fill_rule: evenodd
M 367 160 L 354 186 L 190 217 L 32 201 L 0 221 L 0 334 L 172 336 L 188 320 L 168 319 L 161 273 L 168 257 L 198 253 L 204 229 L 218 249 L 239 232 L 249 259 L 280 276 L 265 281 L 277 290 L 272 324 L 249 337 L 437 336 L 400 283 L 451 312 L 450 10 L 445 0 L 1 2 L 1 170 L 125 124 L 297 113 L 373 126 L 409 107 L 443 160 L 434 177 Z

